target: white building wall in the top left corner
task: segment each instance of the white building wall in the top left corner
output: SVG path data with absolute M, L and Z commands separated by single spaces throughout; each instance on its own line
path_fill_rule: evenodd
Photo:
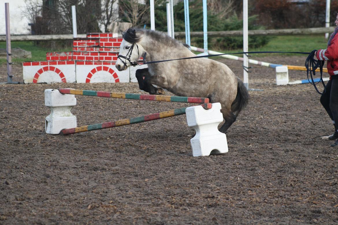
M 0 35 L 6 34 L 5 3 L 9 3 L 10 33 L 29 34 L 28 19 L 23 16 L 24 0 L 0 0 Z

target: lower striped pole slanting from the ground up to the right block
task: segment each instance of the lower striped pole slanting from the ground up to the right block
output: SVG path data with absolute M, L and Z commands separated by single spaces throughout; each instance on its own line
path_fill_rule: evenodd
M 212 104 L 204 103 L 201 106 L 204 109 L 211 109 Z M 174 110 L 160 112 L 160 113 L 154 113 L 154 114 L 145 115 L 145 116 L 133 117 L 130 119 L 121 119 L 121 120 L 112 121 L 112 122 L 104 122 L 104 123 L 92 124 L 92 125 L 87 125 L 87 126 L 79 126 L 77 128 L 64 129 L 61 132 L 63 134 L 75 134 L 75 133 L 81 133 L 81 132 L 86 132 L 86 131 L 113 128 L 116 126 L 124 126 L 124 125 L 129 125 L 129 124 L 134 124 L 134 123 L 142 123 L 142 122 L 146 122 L 150 120 L 163 119 L 167 117 L 186 114 L 186 108 L 188 107 L 174 109 Z

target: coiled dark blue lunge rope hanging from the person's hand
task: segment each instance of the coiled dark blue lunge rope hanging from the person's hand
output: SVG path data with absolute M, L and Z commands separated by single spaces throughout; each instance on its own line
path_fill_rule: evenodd
M 308 58 L 305 60 L 305 67 L 306 67 L 306 75 L 308 77 L 308 81 L 310 84 L 312 84 L 316 91 L 319 93 L 319 94 L 324 94 L 326 92 L 326 85 L 323 81 L 323 66 L 324 66 L 324 63 L 325 61 L 324 60 L 316 60 L 314 59 L 315 57 L 315 53 L 317 52 L 317 50 L 313 50 Z M 313 76 L 316 76 L 316 69 L 319 67 L 319 72 L 320 72 L 320 79 L 317 83 L 314 82 L 313 80 Z M 310 72 L 310 78 L 311 78 L 311 81 L 309 79 L 309 72 Z M 322 85 L 324 86 L 324 90 L 322 93 L 320 93 L 318 91 L 318 88 L 317 88 L 317 84 L 319 84 L 319 82 L 322 83 Z

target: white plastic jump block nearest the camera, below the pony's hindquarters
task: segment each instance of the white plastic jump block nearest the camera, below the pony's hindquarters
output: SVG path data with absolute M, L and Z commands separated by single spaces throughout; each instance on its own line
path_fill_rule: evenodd
M 192 106 L 186 109 L 188 126 L 196 131 L 190 139 L 193 156 L 209 156 L 228 152 L 226 135 L 218 131 L 218 124 L 223 121 L 221 104 L 213 103 L 211 109 Z

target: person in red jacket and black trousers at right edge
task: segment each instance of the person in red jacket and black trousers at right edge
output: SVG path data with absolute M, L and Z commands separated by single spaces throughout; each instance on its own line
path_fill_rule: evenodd
M 319 49 L 316 52 L 318 60 L 327 60 L 328 73 L 330 80 L 326 85 L 326 91 L 320 97 L 320 103 L 329 114 L 335 126 L 335 132 L 329 137 L 336 140 L 331 146 L 338 145 L 338 14 L 335 21 L 337 27 L 331 34 L 327 49 Z

